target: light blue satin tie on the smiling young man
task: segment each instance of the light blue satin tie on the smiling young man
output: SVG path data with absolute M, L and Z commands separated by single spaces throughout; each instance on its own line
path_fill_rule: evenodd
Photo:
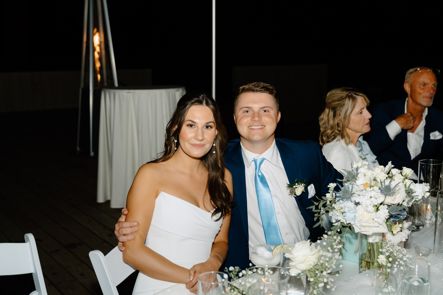
M 274 203 L 272 202 L 271 191 L 269 190 L 266 178 L 264 178 L 263 173 L 260 171 L 260 166 L 263 163 L 264 158 L 254 159 L 253 161 L 255 163 L 255 191 L 257 193 L 258 208 L 260 210 L 260 218 L 261 223 L 263 224 L 266 244 L 283 244 L 277 223 L 276 211 L 274 210 Z

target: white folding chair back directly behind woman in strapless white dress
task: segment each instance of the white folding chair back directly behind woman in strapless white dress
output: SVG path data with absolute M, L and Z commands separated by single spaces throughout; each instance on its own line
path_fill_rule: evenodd
M 118 295 L 117 285 L 136 271 L 131 265 L 123 262 L 123 254 L 117 247 L 106 256 L 99 250 L 92 250 L 89 252 L 89 258 L 104 295 Z

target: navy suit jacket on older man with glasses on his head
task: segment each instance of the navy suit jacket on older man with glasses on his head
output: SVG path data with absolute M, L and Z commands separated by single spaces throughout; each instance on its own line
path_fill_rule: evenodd
M 401 133 L 392 140 L 389 137 L 386 125 L 399 115 L 404 114 L 404 103 L 406 100 L 391 100 L 374 105 L 371 110 L 371 130 L 364 135 L 372 152 L 377 155 L 380 165 L 387 165 L 392 161 L 397 169 L 408 167 L 418 173 L 418 161 L 422 159 L 443 160 L 443 138 L 431 139 L 431 132 L 439 131 L 443 134 L 443 112 L 433 107 L 427 108 L 426 124 L 424 126 L 424 142 L 421 153 L 411 159 L 408 150 L 408 130 Z

